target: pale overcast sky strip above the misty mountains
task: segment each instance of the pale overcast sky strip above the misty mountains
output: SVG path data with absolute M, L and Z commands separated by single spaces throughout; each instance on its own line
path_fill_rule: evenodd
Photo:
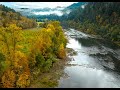
M 67 7 L 77 2 L 0 2 L 11 8 L 55 8 L 57 6 Z

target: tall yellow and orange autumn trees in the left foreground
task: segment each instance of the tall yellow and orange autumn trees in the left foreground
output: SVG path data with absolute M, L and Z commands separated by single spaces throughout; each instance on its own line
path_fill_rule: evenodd
M 22 81 L 20 79 L 23 73 L 30 75 L 27 56 L 18 48 L 21 40 L 21 28 L 15 24 L 0 28 L 1 51 L 5 55 L 6 65 L 1 81 L 3 87 L 25 87 L 24 84 L 28 84 L 25 79 L 28 80 L 29 77 L 23 77 Z

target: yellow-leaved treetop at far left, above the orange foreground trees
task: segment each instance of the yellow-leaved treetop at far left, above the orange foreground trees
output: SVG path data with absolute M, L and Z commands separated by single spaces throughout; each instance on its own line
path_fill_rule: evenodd
M 16 50 L 17 43 L 21 40 L 21 28 L 15 24 L 10 24 L 8 27 L 2 27 L 0 29 L 0 37 L 2 43 L 2 53 L 6 56 L 7 60 L 14 59 L 14 52 Z

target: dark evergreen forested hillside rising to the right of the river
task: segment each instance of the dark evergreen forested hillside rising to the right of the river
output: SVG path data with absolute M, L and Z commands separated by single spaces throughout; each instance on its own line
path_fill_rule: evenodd
M 119 43 L 120 2 L 89 2 L 84 9 L 73 10 L 62 24 Z

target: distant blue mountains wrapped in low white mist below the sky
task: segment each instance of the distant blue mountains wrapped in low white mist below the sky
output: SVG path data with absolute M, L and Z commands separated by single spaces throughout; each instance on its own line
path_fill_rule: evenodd
M 60 17 L 67 17 L 69 13 L 72 11 L 81 8 L 85 5 L 86 2 L 78 2 L 74 3 L 68 7 L 60 7 L 56 8 L 15 8 L 15 11 L 19 12 L 23 16 L 27 16 L 28 18 L 34 18 L 38 21 L 44 21 L 44 19 L 48 20 L 59 20 Z

